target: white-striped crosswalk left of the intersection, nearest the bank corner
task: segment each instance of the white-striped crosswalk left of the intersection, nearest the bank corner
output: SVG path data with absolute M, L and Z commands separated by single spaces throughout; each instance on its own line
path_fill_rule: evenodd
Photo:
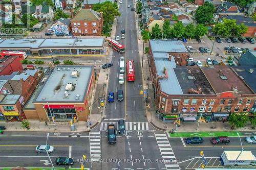
M 91 161 L 99 161 L 101 157 L 100 132 L 90 132 L 89 138 Z

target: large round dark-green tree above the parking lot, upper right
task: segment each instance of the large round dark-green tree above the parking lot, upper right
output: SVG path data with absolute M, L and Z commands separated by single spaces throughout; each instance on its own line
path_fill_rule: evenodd
M 207 25 L 211 22 L 212 16 L 215 12 L 215 6 L 209 2 L 205 2 L 204 5 L 198 7 L 196 10 L 195 18 L 197 23 Z

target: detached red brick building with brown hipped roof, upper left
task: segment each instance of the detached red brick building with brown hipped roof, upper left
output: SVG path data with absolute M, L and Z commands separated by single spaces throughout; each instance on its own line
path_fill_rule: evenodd
M 103 28 L 102 12 L 81 9 L 72 17 L 71 27 L 74 36 L 101 36 Z

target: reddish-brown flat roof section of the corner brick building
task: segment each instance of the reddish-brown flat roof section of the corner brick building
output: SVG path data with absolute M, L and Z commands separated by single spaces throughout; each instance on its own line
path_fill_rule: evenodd
M 229 66 L 216 65 L 215 67 L 202 67 L 202 70 L 212 88 L 217 93 L 233 91 L 232 87 L 237 87 L 240 93 L 253 94 L 253 91 L 246 86 L 242 79 Z

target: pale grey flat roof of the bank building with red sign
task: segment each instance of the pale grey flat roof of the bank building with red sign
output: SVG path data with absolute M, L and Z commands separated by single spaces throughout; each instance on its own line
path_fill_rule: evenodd
M 71 77 L 73 70 L 78 71 L 78 77 Z M 55 67 L 34 102 L 83 102 L 90 84 L 92 70 L 93 66 L 82 65 Z M 73 83 L 75 88 L 67 90 L 68 96 L 66 97 L 65 91 L 68 83 Z M 79 95 L 78 99 L 76 99 L 76 95 Z

